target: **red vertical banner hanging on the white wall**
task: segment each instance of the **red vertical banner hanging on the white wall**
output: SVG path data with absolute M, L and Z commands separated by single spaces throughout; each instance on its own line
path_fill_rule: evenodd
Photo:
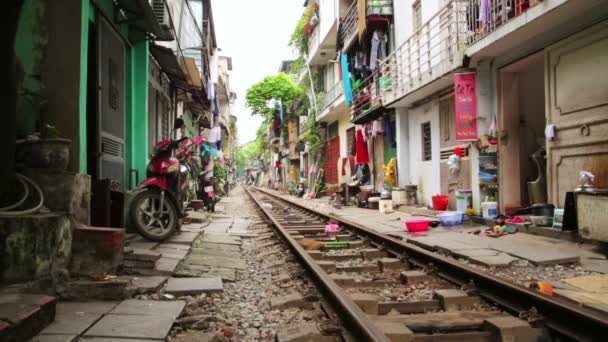
M 477 82 L 475 73 L 454 74 L 456 140 L 477 140 Z

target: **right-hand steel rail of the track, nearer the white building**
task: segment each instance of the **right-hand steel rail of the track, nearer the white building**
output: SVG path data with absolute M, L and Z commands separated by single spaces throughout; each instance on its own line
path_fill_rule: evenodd
M 539 321 L 531 323 L 542 322 L 542 325 L 545 327 L 569 339 L 598 341 L 602 339 L 601 336 L 606 336 L 608 333 L 608 315 L 602 315 L 599 312 L 584 307 L 558 301 L 521 285 L 462 265 L 457 261 L 428 251 L 422 247 L 378 233 L 360 223 L 307 208 L 260 188 L 257 188 L 257 190 L 275 199 L 314 213 L 317 216 L 341 222 L 378 247 L 385 248 L 387 251 L 400 255 L 402 258 L 408 259 L 419 266 L 428 267 L 431 265 L 431 268 L 436 270 L 438 276 L 449 281 L 460 285 L 473 284 L 479 290 L 481 297 L 498 304 L 507 311 L 522 315 L 534 308 L 540 316 L 538 317 Z

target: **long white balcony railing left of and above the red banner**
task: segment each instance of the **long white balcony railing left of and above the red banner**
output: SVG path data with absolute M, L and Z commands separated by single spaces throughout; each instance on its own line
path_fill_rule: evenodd
M 380 65 L 379 91 L 392 103 L 462 64 L 469 0 L 452 0 Z

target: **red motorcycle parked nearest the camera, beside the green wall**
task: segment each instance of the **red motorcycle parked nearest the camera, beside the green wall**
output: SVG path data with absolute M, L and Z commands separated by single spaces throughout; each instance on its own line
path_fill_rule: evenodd
M 174 129 L 183 127 L 177 119 Z M 131 220 L 147 240 L 166 240 L 181 226 L 184 199 L 190 183 L 190 170 L 173 152 L 188 138 L 162 140 L 155 147 L 146 169 L 146 179 L 135 189 L 130 206 Z

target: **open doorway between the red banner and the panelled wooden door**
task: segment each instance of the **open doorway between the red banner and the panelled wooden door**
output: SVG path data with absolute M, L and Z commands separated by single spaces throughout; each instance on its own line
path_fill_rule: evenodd
M 542 52 L 499 70 L 498 198 L 503 212 L 547 203 L 544 77 Z

